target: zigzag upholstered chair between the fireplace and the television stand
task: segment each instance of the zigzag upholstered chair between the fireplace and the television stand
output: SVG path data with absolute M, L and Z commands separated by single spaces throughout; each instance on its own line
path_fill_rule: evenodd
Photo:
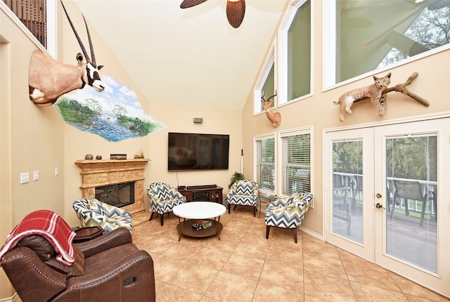
M 152 207 L 152 215 L 148 220 L 151 221 L 155 213 L 160 214 L 161 225 L 164 223 L 165 213 L 169 214 L 175 206 L 186 202 L 186 197 L 167 183 L 150 183 L 147 187 L 147 194 Z

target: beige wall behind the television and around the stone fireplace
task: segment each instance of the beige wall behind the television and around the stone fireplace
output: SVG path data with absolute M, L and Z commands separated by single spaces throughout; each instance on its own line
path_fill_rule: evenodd
M 82 37 L 84 44 L 84 24 L 81 13 L 73 2 L 65 4 L 70 12 L 70 18 L 75 24 L 77 31 Z M 59 28 L 63 29 L 59 39 L 62 41 L 63 50 L 61 60 L 67 63 L 75 61 L 75 55 L 79 46 L 72 33 L 72 29 L 66 20 L 60 22 Z M 133 138 L 121 142 L 108 142 L 100 136 L 79 131 L 74 127 L 63 123 L 65 133 L 64 140 L 64 210 L 65 220 L 70 225 L 78 225 L 75 211 L 72 209 L 72 202 L 81 197 L 79 185 L 81 178 L 79 169 L 74 162 L 77 159 L 84 159 L 86 154 L 102 155 L 108 159 L 111 153 L 127 153 L 128 158 L 132 158 L 134 153 L 143 149 L 146 158 L 150 159 L 145 170 L 146 185 L 153 181 L 164 181 L 171 185 L 212 185 L 216 184 L 228 190 L 229 179 L 234 171 L 240 170 L 240 149 L 242 148 L 242 112 L 236 110 L 217 110 L 205 107 L 192 107 L 189 98 L 186 96 L 186 105 L 165 105 L 165 100 L 153 100 L 151 96 L 144 96 L 129 77 L 126 67 L 122 66 L 108 46 L 104 44 L 97 32 L 90 27 L 91 38 L 96 53 L 98 65 L 104 65 L 101 74 L 118 79 L 122 84 L 128 86 L 136 92 L 137 100 L 150 117 L 164 124 L 165 129 L 150 133 L 143 138 Z M 61 48 L 61 47 L 60 47 Z M 75 51 L 74 51 L 75 50 Z M 164 76 L 164 75 L 162 75 Z M 169 75 L 167 75 L 169 77 Z M 194 124 L 194 117 L 203 117 L 202 124 Z M 168 132 L 193 132 L 193 133 L 217 133 L 230 135 L 230 158 L 229 170 L 220 171 L 167 171 L 167 140 Z M 146 186 L 145 185 L 145 186 Z M 144 197 L 148 209 L 148 199 Z

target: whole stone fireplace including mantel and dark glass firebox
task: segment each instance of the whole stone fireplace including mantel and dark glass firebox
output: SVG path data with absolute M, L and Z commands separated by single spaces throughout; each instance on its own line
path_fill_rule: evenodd
M 79 187 L 82 198 L 97 198 L 131 214 L 145 210 L 143 171 L 148 160 L 77 160 L 75 164 L 81 169 L 79 174 L 82 176 L 82 185 Z

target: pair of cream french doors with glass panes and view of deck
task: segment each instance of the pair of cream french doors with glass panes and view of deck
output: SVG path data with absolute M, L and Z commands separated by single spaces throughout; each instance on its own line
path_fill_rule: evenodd
M 450 119 L 325 142 L 326 241 L 450 296 Z

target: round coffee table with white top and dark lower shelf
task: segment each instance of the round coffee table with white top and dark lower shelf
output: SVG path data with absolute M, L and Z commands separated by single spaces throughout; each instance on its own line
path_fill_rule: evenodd
M 217 235 L 219 238 L 219 232 L 223 226 L 220 223 L 220 216 L 225 213 L 226 207 L 216 202 L 186 202 L 174 207 L 174 214 L 178 216 L 179 224 L 176 226 L 181 239 L 181 235 L 188 237 L 209 237 Z M 183 221 L 180 218 L 184 218 Z M 214 220 L 210 219 L 214 218 Z M 188 219 L 188 220 L 186 220 Z M 195 221 L 206 219 L 212 222 L 210 228 L 197 230 L 193 228 Z M 217 219 L 217 220 L 216 220 Z

